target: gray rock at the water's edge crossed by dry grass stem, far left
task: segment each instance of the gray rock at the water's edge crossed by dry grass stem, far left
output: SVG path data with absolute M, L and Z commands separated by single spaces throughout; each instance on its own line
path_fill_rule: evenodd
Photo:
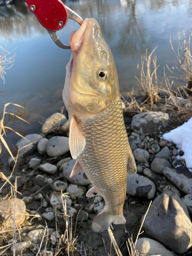
M 42 139 L 42 136 L 39 134 L 29 134 L 27 136 L 25 136 L 26 139 L 20 139 L 17 143 L 16 143 L 16 149 L 18 150 L 18 148 L 22 148 L 28 144 L 31 144 L 33 142 L 33 144 L 24 147 L 22 150 L 19 151 L 19 157 L 28 157 L 31 156 L 35 153 L 36 149 L 37 149 L 37 143 L 40 139 Z

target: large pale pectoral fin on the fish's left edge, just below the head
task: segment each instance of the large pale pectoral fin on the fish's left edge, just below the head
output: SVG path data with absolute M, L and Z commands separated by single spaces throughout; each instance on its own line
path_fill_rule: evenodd
M 76 159 L 86 146 L 86 140 L 82 136 L 77 121 L 74 116 L 71 118 L 70 133 L 69 133 L 69 148 L 71 156 Z

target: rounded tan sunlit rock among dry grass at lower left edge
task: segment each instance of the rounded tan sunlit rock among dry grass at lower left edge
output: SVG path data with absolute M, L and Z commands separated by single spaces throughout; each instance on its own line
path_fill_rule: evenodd
M 0 202 L 1 226 L 0 229 L 13 228 L 14 224 L 19 227 L 25 221 L 26 205 L 22 199 L 10 199 Z M 13 224 L 14 220 L 14 224 Z

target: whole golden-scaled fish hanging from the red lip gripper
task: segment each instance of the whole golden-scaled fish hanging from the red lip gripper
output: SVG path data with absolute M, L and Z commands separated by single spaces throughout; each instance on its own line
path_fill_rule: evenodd
M 114 58 L 94 18 L 71 32 L 70 46 L 62 97 L 70 120 L 70 152 L 76 159 L 71 177 L 86 173 L 93 185 L 86 196 L 103 197 L 105 207 L 92 223 L 94 232 L 102 232 L 112 223 L 125 224 L 127 172 L 136 173 L 136 164 L 123 121 Z

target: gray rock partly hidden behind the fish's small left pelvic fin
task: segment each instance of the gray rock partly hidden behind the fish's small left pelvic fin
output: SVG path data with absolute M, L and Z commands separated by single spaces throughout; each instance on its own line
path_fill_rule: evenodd
M 73 177 L 69 178 L 75 163 L 76 163 L 76 160 L 72 159 L 68 162 L 67 165 L 63 164 L 63 166 L 60 167 L 60 170 L 62 170 L 63 176 L 67 180 L 69 180 L 71 183 L 76 185 L 86 186 L 91 184 L 88 177 L 83 172 L 75 174 Z

